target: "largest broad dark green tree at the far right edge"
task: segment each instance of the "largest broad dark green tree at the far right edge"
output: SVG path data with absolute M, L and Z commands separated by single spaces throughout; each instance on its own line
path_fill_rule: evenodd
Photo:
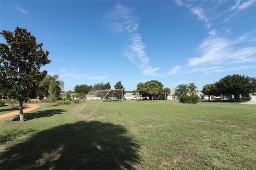
M 240 100 L 240 95 L 255 92 L 256 78 L 246 75 L 227 75 L 215 83 L 222 95 L 234 95 L 235 101 Z

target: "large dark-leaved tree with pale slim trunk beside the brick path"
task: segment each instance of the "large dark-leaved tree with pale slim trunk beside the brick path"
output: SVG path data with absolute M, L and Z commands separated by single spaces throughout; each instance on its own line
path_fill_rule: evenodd
M 39 83 L 47 71 L 41 67 L 49 64 L 49 52 L 27 29 L 17 27 L 13 32 L 0 32 L 6 44 L 0 44 L 0 94 L 19 101 L 20 122 L 24 121 L 23 102 L 36 98 Z

